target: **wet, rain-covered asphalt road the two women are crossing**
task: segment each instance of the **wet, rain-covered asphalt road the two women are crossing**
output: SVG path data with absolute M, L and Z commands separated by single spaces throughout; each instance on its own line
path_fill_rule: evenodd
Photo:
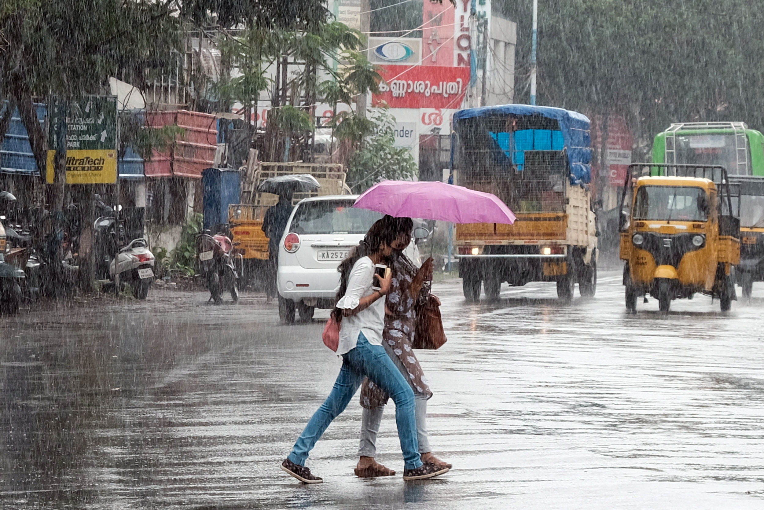
M 313 450 L 325 483 L 278 470 L 339 360 L 312 324 L 244 295 L 35 309 L 0 328 L 3 508 L 764 508 L 764 284 L 723 315 L 698 297 L 624 313 L 503 286 L 436 284 L 448 343 L 419 358 L 439 479 L 353 476 L 358 397 Z M 578 295 L 578 291 L 576 292 Z M 380 461 L 402 471 L 393 408 Z

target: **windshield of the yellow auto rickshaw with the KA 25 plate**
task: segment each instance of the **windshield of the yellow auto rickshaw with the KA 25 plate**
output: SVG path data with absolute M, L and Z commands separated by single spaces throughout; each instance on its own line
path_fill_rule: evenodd
M 633 215 L 636 220 L 706 221 L 708 195 L 696 186 L 640 186 Z

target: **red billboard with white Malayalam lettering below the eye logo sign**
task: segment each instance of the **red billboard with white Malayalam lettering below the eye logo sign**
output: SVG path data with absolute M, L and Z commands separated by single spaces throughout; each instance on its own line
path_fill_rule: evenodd
M 390 108 L 459 108 L 470 81 L 468 67 L 379 66 L 384 82 L 374 105 Z

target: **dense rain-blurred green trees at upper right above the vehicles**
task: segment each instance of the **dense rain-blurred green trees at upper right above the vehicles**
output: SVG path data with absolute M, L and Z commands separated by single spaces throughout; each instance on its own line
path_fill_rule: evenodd
M 516 100 L 528 99 L 532 0 L 518 22 Z M 537 103 L 618 111 L 649 140 L 671 122 L 764 127 L 764 15 L 743 0 L 539 2 Z

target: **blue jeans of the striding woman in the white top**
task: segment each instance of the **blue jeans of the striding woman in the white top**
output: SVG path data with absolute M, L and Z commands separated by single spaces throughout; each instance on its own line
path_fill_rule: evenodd
M 332 420 L 345 411 L 364 377 L 384 389 L 395 402 L 395 421 L 398 425 L 400 450 L 403 451 L 404 467 L 413 470 L 422 465 L 419 444 L 416 441 L 416 418 L 414 417 L 414 392 L 387 356 L 381 345 L 369 344 L 363 333 L 358 334 L 358 344 L 342 355 L 342 368 L 332 392 L 326 397 L 294 444 L 289 460 L 299 466 L 305 465 L 310 450 L 322 436 Z

